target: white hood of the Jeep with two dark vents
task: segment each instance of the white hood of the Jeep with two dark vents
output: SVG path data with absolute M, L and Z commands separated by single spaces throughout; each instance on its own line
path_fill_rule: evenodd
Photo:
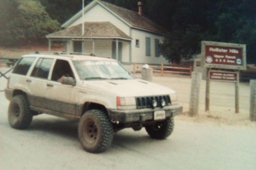
M 145 80 L 97 80 L 83 81 L 83 87 L 119 97 L 154 96 L 176 93 L 167 87 Z

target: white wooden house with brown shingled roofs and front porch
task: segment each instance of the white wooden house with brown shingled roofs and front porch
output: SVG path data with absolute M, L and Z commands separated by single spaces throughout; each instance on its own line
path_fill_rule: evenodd
M 165 30 L 145 18 L 142 3 L 138 5 L 139 12 L 135 12 L 102 0 L 92 1 L 65 22 L 64 29 L 46 35 L 49 50 L 52 41 L 61 40 L 66 42 L 67 52 L 111 57 L 124 65 L 167 64 L 158 47 Z

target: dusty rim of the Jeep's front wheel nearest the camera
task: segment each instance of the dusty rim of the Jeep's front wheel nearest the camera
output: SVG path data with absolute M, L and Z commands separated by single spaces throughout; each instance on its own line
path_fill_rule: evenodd
M 89 119 L 84 123 L 83 134 L 87 143 L 93 144 L 98 140 L 98 127 L 94 120 Z

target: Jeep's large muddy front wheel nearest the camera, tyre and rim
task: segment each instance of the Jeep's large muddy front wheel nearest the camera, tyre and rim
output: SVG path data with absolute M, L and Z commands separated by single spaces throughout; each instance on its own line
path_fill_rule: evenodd
M 113 124 L 105 112 L 89 110 L 79 121 L 78 136 L 86 151 L 104 152 L 113 141 Z

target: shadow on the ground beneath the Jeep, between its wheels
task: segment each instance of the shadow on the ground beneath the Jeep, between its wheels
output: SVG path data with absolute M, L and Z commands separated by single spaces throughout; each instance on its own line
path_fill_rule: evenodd
M 47 133 L 60 136 L 63 139 L 67 138 L 69 140 L 78 141 L 77 128 L 78 122 L 75 121 L 54 117 L 48 119 L 37 117 L 27 129 L 27 133 Z M 151 144 L 153 146 L 156 142 L 159 142 L 159 140 L 151 139 L 144 128 L 141 131 L 133 131 L 131 128 L 128 128 L 114 134 L 113 143 L 108 152 L 111 152 L 111 150 L 114 151 L 116 147 L 135 151 L 136 148 L 148 148 Z

